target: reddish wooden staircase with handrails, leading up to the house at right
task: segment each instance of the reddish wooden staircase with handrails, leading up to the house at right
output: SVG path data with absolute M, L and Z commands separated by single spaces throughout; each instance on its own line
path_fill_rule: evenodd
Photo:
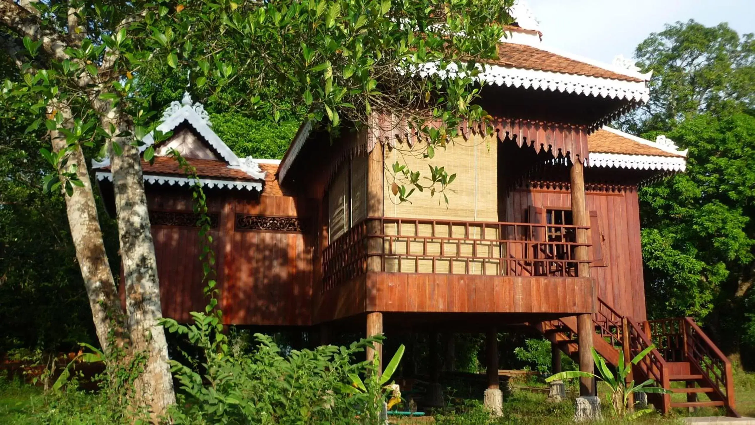
M 649 402 L 662 413 L 671 408 L 722 407 L 726 414 L 739 417 L 735 411 L 732 365 L 713 341 L 689 317 L 661 319 L 639 324 L 618 314 L 600 298 L 593 313 L 596 336 L 595 350 L 615 366 L 618 350 L 632 359 L 651 344 L 655 349 L 633 366 L 637 382 L 653 379 L 673 393 L 685 393 L 686 402 L 672 402 L 671 394 L 648 394 Z M 578 357 L 577 319 L 564 317 L 535 325 L 546 336 L 554 336 L 560 350 L 572 359 Z M 684 388 L 672 388 L 672 382 L 683 381 Z M 704 394 L 707 400 L 699 400 Z

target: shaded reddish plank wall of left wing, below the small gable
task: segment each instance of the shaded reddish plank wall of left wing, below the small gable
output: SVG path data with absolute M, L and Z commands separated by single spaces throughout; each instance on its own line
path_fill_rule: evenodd
M 213 230 L 217 282 L 225 322 L 238 325 L 310 325 L 312 299 L 311 238 L 304 233 L 236 230 L 236 214 L 297 217 L 302 211 L 290 196 L 208 190 L 208 210 L 220 214 Z M 190 192 L 148 189 L 150 210 L 192 211 Z M 297 211 L 300 211 L 297 214 Z M 304 225 L 304 223 L 303 223 Z M 306 229 L 305 229 L 306 231 Z M 187 321 L 204 309 L 199 229 L 153 226 L 162 312 Z

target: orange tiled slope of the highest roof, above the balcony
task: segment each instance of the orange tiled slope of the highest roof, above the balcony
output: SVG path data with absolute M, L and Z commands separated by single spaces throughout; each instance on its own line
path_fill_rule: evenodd
M 498 60 L 492 61 L 495 65 L 513 66 L 514 68 L 538 69 L 542 71 L 563 72 L 575 75 L 590 75 L 606 79 L 617 79 L 629 82 L 641 82 L 643 80 L 622 75 L 616 72 L 602 69 L 599 66 L 580 62 L 569 57 L 560 56 L 534 48 L 529 45 L 517 43 L 498 43 Z

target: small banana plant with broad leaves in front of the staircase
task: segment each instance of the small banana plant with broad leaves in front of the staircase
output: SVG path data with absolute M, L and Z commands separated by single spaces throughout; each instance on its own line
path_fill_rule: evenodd
M 606 401 L 612 405 L 616 416 L 622 419 L 626 418 L 633 420 L 637 417 L 642 416 L 643 414 L 649 413 L 650 411 L 652 411 L 652 409 L 646 408 L 634 411 L 632 414 L 628 414 L 630 411 L 629 397 L 631 394 L 670 393 L 670 390 L 665 390 L 664 388 L 653 386 L 655 380 L 652 379 L 646 380 L 645 382 L 639 384 L 635 384 L 634 380 L 632 380 L 627 384 L 627 376 L 629 376 L 632 371 L 632 365 L 639 363 L 639 361 L 647 356 L 654 348 L 655 345 L 647 347 L 645 350 L 634 356 L 634 358 L 628 363 L 624 362 L 624 351 L 619 350 L 618 365 L 616 367 L 615 374 L 609 368 L 609 365 L 606 363 L 606 359 L 603 359 L 593 348 L 593 359 L 595 360 L 595 365 L 597 366 L 600 375 L 591 374 L 590 372 L 584 371 L 564 371 L 550 375 L 550 377 L 547 377 L 545 381 L 551 382 L 553 380 L 563 380 L 575 377 L 596 377 L 597 379 L 602 380 L 603 382 L 608 384 L 609 388 L 611 389 L 611 393 L 606 395 Z

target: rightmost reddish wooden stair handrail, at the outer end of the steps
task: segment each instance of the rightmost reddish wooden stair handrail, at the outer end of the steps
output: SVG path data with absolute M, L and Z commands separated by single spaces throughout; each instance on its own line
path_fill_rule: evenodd
M 738 416 L 734 411 L 734 378 L 732 376 L 732 362 L 719 350 L 716 344 L 705 334 L 691 317 L 684 318 L 685 350 L 689 364 L 713 383 L 713 390 L 726 403 L 730 413 Z M 716 369 L 718 371 L 716 372 Z M 722 389 L 725 388 L 725 390 Z

